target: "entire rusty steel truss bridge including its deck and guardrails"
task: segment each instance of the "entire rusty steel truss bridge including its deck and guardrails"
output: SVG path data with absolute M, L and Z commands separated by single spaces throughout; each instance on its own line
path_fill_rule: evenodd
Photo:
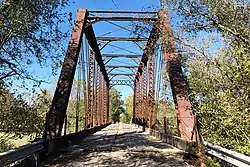
M 99 22 L 127 31 L 120 23 L 132 22 L 136 35 L 96 36 L 94 25 Z M 149 36 L 138 34 L 141 24 L 149 25 L 145 28 Z M 143 52 L 115 45 L 122 42 Z M 117 50 L 105 52 L 108 46 Z M 78 109 L 74 132 L 69 133 L 67 107 L 74 78 Z M 132 122 L 127 124 L 116 122 L 110 114 L 110 91 L 116 85 L 129 86 L 134 92 Z M 175 104 L 176 126 L 166 118 L 167 92 Z M 43 136 L 0 153 L 0 166 L 205 166 L 206 156 L 217 158 L 224 166 L 250 166 L 246 155 L 200 138 L 189 98 L 166 10 L 78 9 Z

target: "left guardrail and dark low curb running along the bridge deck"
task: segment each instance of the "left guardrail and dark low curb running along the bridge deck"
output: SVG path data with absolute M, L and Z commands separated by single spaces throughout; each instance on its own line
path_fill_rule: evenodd
M 61 151 L 61 149 L 68 148 L 71 145 L 81 142 L 81 140 L 87 136 L 102 130 L 108 125 L 110 125 L 110 123 L 85 129 L 79 131 L 78 133 L 71 133 L 55 138 L 51 141 L 39 140 L 19 148 L 0 153 L 0 167 L 4 167 L 6 165 L 16 167 L 37 167 L 40 165 L 40 156 L 44 156 L 44 154 L 57 154 Z

